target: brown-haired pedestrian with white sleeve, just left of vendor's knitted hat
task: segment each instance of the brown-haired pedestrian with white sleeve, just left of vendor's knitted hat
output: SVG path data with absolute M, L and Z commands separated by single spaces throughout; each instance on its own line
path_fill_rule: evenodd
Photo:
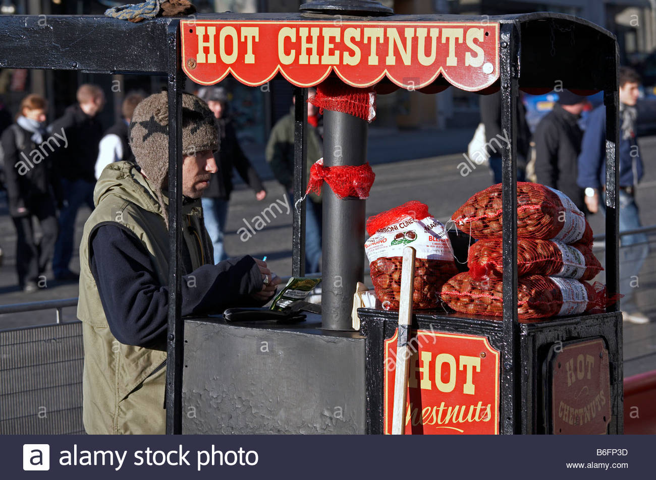
M 107 129 L 105 136 L 100 140 L 98 159 L 96 160 L 96 178 L 100 178 L 102 169 L 110 163 L 119 161 L 134 162 L 128 134 L 134 108 L 141 100 L 144 100 L 144 96 L 138 93 L 131 93 L 123 100 L 123 104 L 121 104 L 122 118 Z

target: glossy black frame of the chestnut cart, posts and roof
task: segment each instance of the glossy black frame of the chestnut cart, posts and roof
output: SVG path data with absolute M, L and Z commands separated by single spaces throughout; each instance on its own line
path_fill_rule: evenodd
M 333 7 L 334 8 L 334 7 Z M 355 9 L 357 10 L 357 9 Z M 326 10 L 327 11 L 327 10 Z M 330 10 L 345 14 L 344 10 Z M 330 14 L 207 14 L 199 20 L 327 20 Z M 182 18 L 184 20 L 184 18 Z M 365 22 L 367 17 L 349 20 Z M 181 98 L 184 74 L 180 65 L 180 18 L 156 18 L 132 24 L 104 16 L 0 16 L 0 68 L 41 70 L 81 70 L 91 73 L 141 73 L 166 75 L 169 93 L 169 239 L 171 264 L 169 271 L 169 335 L 167 360 L 167 433 L 181 431 L 182 332 L 180 315 L 180 212 L 182 193 L 182 129 Z M 604 29 L 572 16 L 535 13 L 502 17 L 463 17 L 449 15 L 378 16 L 377 21 L 416 22 L 499 22 L 500 67 L 499 87 L 502 94 L 502 128 L 516 136 L 514 115 L 518 90 L 554 85 L 563 88 L 604 90 L 606 123 L 606 278 L 609 297 L 618 292 L 618 53 L 615 37 Z M 437 83 L 441 78 L 436 80 Z M 295 199 L 304 191 L 306 118 L 304 102 L 307 89 L 296 89 L 295 108 Z M 516 358 L 520 349 L 520 324 L 517 319 L 517 197 L 516 145 L 504 146 L 503 169 L 503 275 L 504 306 L 502 321 L 501 433 L 516 433 L 516 417 L 520 414 L 514 399 L 518 397 L 518 377 L 522 374 Z M 510 220 L 510 221 L 508 221 Z M 304 210 L 293 217 L 293 275 L 304 273 Z M 324 245 L 337 249 L 338 245 Z M 609 312 L 617 312 L 616 304 Z M 606 314 L 609 315 L 609 314 Z M 615 313 L 615 321 L 617 321 Z M 612 316 L 612 315 L 611 315 Z M 599 321 L 604 321 L 602 316 Z M 621 353 L 621 320 L 617 328 Z M 620 357 L 621 361 L 621 357 Z M 621 375 L 621 366 L 620 366 Z M 621 378 L 619 379 L 621 399 Z M 621 422 L 621 419 L 619 420 Z M 620 429 L 621 430 L 621 429 Z

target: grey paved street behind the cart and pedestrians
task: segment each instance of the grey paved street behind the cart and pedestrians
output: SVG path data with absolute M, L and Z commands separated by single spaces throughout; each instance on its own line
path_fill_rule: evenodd
M 471 195 L 491 184 L 487 167 L 480 166 L 466 177 L 462 177 L 457 165 L 462 161 L 461 153 L 466 149 L 472 131 L 459 130 L 378 130 L 371 129 L 369 134 L 369 161 L 377 175 L 376 182 L 367 200 L 367 216 L 382 210 L 396 207 L 409 200 L 419 200 L 430 207 L 430 211 L 439 220 L 445 221 Z M 646 176 L 638 188 L 638 205 L 642 208 L 644 225 L 656 224 L 656 136 L 646 137 L 640 141 Z M 273 179 L 264 162 L 262 146 L 245 146 L 262 177 L 266 180 L 268 190 L 266 199 L 255 200 L 253 191 L 241 183 L 232 195 L 228 214 L 228 234 L 226 250 L 230 255 L 252 254 L 267 256 L 272 270 L 279 275 L 291 273 L 291 212 L 283 208 L 266 228 L 256 231 L 255 235 L 241 241 L 237 230 L 245 222 L 262 212 L 279 199 L 284 202 L 283 189 Z M 277 213 L 278 210 L 274 209 Z M 79 242 L 81 230 L 89 210 L 81 210 L 77 220 L 75 241 Z M 603 233 L 602 216 L 592 216 L 590 224 L 595 233 Z M 6 200 L 0 201 L 0 245 L 5 251 L 5 260 L 0 267 L 0 304 L 32 302 L 55 298 L 72 298 L 77 296 L 77 284 L 56 283 L 49 279 L 47 288 L 35 294 L 26 295 L 15 287 L 14 271 L 14 228 L 7 216 Z M 653 248 L 652 250 L 656 250 Z M 640 287 L 636 292 L 638 306 L 651 315 L 650 325 L 632 325 L 625 323 L 625 357 L 635 361 L 627 363 L 626 374 L 632 370 L 653 369 L 656 365 L 643 365 L 648 353 L 656 351 L 656 254 L 652 252 L 641 273 Z M 77 256 L 73 270 L 78 270 Z M 50 277 L 49 277 L 50 278 Z M 367 279 L 368 280 L 368 279 Z M 75 319 L 75 309 L 63 311 L 64 320 Z M 54 322 L 54 311 L 41 311 L 0 315 L 0 329 L 38 325 Z M 651 361 L 651 360 L 649 360 Z M 628 369 L 630 365 L 630 369 Z

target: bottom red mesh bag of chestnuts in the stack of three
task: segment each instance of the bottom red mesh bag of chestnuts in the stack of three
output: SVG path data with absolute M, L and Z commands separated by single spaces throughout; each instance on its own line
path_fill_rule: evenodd
M 601 283 L 529 275 L 518 279 L 517 314 L 520 319 L 600 312 L 607 305 Z M 470 315 L 503 315 L 503 281 L 499 277 L 474 280 L 468 271 L 444 284 L 441 298 L 453 310 Z

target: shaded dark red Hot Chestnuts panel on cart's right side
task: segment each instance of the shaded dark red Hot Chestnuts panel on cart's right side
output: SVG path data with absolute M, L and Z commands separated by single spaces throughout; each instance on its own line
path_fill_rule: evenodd
M 550 364 L 553 433 L 606 433 L 611 421 L 611 399 L 604 342 L 598 338 L 568 344 L 556 351 Z

